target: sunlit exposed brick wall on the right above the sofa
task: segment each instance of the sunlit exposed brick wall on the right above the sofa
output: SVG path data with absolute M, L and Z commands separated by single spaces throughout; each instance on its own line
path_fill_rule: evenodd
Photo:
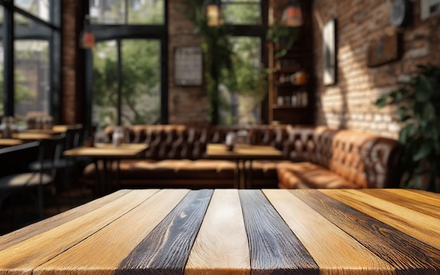
M 440 15 L 420 20 L 420 2 L 413 1 L 413 22 L 396 28 L 389 23 L 390 0 L 316 0 L 313 2 L 314 59 L 316 61 L 316 124 L 398 136 L 393 110 L 378 110 L 380 94 L 396 88 L 416 65 L 440 64 Z M 322 81 L 323 24 L 337 19 L 337 83 Z M 369 68 L 371 41 L 402 32 L 403 56 L 392 63 Z

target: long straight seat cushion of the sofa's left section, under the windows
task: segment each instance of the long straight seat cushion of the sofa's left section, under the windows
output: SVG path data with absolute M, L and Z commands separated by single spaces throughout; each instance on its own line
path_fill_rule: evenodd
M 235 162 L 228 160 L 121 160 L 119 178 L 234 179 L 235 168 Z M 95 165 L 88 165 L 83 174 L 86 179 L 94 178 Z

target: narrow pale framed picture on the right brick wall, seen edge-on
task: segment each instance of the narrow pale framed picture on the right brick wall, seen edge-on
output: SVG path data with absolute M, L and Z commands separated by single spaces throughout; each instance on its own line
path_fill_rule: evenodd
M 325 23 L 323 27 L 323 83 L 336 83 L 336 19 Z

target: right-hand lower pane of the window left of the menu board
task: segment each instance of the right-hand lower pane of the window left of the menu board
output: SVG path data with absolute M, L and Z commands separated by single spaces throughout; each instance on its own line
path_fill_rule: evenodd
M 122 41 L 122 124 L 160 120 L 160 41 Z

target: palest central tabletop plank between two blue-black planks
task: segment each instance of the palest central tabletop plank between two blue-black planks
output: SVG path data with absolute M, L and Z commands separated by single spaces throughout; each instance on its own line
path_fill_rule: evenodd
M 237 190 L 214 191 L 185 274 L 250 274 L 249 243 Z

